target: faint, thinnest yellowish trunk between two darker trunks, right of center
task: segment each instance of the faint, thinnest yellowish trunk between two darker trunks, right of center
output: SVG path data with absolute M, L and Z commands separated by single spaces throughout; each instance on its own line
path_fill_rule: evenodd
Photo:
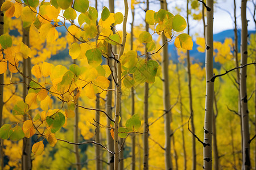
M 179 65 L 177 65 L 177 76 L 178 76 L 178 88 L 179 88 L 179 102 L 180 102 L 180 119 L 181 119 L 181 124 L 183 124 L 183 104 L 182 104 L 182 95 L 181 95 L 181 83 L 180 83 L 180 74 L 179 74 Z M 182 136 L 182 148 L 183 148 L 183 159 L 184 159 L 184 164 L 183 164 L 183 169 L 187 169 L 187 152 L 185 148 L 185 138 L 184 138 L 184 128 L 183 126 L 181 127 L 181 136 Z

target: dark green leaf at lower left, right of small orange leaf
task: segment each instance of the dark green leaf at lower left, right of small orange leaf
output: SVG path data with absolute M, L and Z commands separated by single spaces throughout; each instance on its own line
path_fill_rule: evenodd
M 56 131 L 58 131 L 61 126 L 65 124 L 65 116 L 64 114 L 58 112 L 55 113 L 53 116 L 47 116 L 46 122 L 51 128 L 51 132 L 56 133 Z

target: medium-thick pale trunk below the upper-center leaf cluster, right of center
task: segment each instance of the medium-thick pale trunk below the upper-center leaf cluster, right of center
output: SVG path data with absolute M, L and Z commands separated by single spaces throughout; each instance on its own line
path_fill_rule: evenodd
M 167 10 L 167 2 L 160 1 L 161 8 Z M 166 42 L 166 36 L 162 33 L 162 43 Z M 166 169 L 172 169 L 172 159 L 171 159 L 171 102 L 170 102 L 170 90 L 169 90 L 169 57 L 168 57 L 168 45 L 163 46 L 163 55 L 162 55 L 162 72 L 163 72 L 163 103 L 164 103 L 164 133 L 165 133 L 165 164 Z

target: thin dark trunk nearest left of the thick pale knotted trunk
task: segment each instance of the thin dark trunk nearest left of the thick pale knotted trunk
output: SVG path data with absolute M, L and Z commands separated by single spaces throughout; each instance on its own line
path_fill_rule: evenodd
M 189 0 L 187 0 L 187 29 L 189 35 Z M 187 50 L 187 70 L 188 70 L 188 93 L 189 93 L 189 109 L 191 114 L 191 131 L 195 133 L 194 114 L 193 114 L 193 100 L 192 100 L 192 88 L 191 88 L 191 70 L 190 70 L 190 55 Z M 192 136 L 192 169 L 196 169 L 196 138 Z

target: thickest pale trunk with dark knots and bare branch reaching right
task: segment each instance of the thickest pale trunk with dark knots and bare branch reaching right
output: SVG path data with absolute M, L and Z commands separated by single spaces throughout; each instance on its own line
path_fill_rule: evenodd
M 207 27 L 206 27 L 206 56 L 205 70 L 207 88 L 205 95 L 205 121 L 204 121 L 204 169 L 212 169 L 212 124 L 213 124 L 213 96 L 214 82 L 210 81 L 213 77 L 213 1 L 207 0 Z

